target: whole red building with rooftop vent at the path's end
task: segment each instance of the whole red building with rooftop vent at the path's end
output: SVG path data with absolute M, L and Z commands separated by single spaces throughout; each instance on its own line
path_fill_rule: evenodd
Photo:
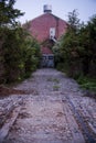
M 41 66 L 54 67 L 54 55 L 51 46 L 66 32 L 67 23 L 52 14 L 51 6 L 45 4 L 43 12 L 42 15 L 29 21 L 26 29 L 41 43 Z

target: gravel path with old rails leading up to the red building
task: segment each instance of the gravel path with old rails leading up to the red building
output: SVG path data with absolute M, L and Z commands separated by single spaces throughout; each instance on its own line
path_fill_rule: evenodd
M 96 102 L 55 69 L 39 69 L 0 99 L 0 143 L 96 143 Z

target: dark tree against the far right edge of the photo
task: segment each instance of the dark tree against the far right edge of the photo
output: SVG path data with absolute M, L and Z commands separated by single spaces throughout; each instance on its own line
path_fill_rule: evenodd
M 89 74 L 92 63 L 96 62 L 96 15 L 92 16 L 87 25 L 79 31 L 84 75 Z M 94 64 L 95 66 L 95 64 Z

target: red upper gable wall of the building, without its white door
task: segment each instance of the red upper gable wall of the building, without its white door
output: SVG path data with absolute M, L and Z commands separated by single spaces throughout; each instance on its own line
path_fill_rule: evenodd
M 56 38 L 58 38 L 63 33 L 65 33 L 67 28 L 67 23 L 65 21 L 51 13 L 44 13 L 30 21 L 29 24 L 29 31 L 40 42 L 50 37 L 50 28 L 55 28 Z

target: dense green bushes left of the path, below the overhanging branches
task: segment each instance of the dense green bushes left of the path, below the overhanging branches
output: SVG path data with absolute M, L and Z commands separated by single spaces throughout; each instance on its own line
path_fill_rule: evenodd
M 40 62 L 40 45 L 22 28 L 2 28 L 3 43 L 1 59 L 3 65 L 3 81 L 22 80 L 34 72 Z

